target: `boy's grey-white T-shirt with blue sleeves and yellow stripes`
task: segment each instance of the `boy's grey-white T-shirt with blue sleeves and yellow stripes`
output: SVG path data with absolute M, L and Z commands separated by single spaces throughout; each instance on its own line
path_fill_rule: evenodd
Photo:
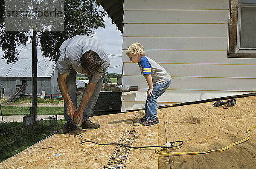
M 165 83 L 171 79 L 169 73 L 162 66 L 147 56 L 143 56 L 138 65 L 143 76 L 151 74 L 153 85 Z

